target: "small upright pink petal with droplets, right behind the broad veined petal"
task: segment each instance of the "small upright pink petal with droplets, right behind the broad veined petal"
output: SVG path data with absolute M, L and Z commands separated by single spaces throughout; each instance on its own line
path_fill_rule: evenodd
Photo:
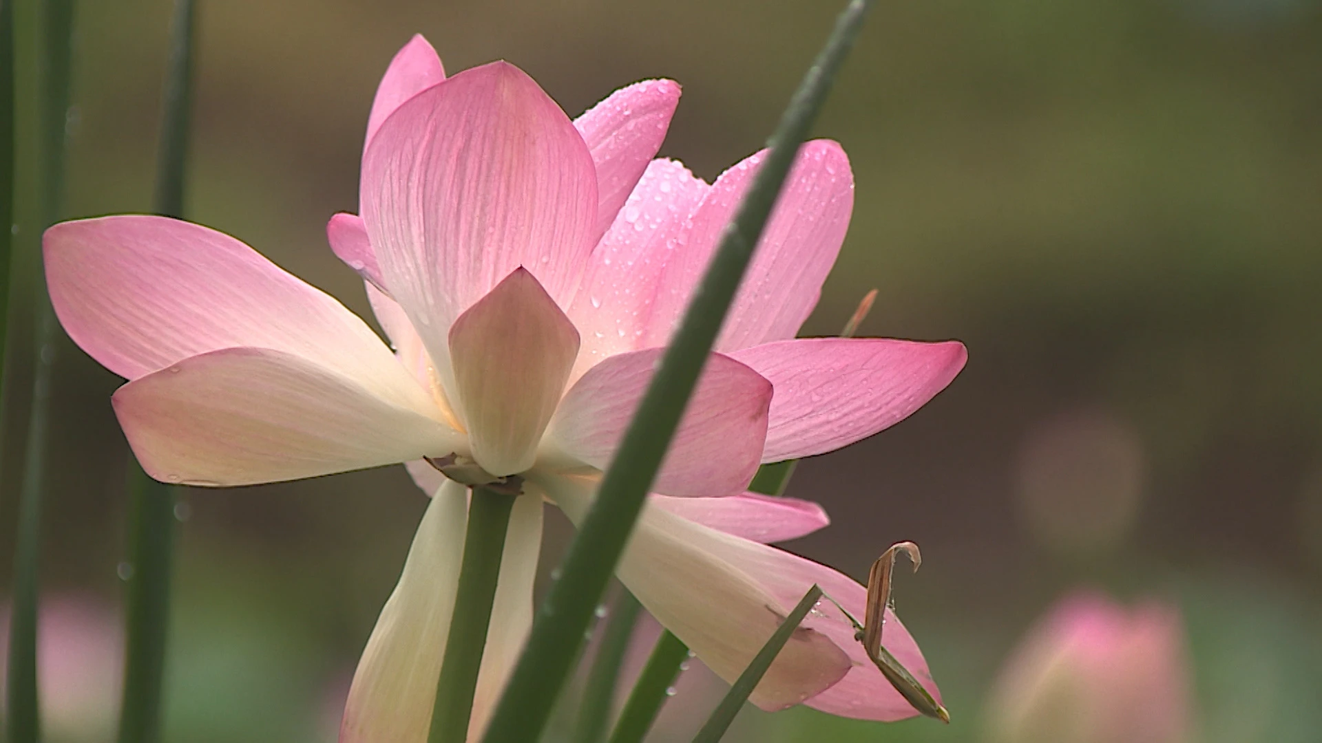
M 680 85 L 650 79 L 621 87 L 574 120 L 596 164 L 594 237 L 615 221 L 648 161 L 656 156 L 680 104 Z

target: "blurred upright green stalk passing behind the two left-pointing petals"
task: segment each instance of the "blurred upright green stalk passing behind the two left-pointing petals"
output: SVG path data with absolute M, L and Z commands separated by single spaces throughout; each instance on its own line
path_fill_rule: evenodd
M 192 110 L 193 0 L 176 0 L 171 21 L 171 50 L 161 106 L 155 210 L 167 217 L 184 214 L 184 173 Z M 160 739 L 161 689 L 165 678 L 165 643 L 169 628 L 169 584 L 175 546 L 175 490 L 130 463 L 128 551 L 134 566 L 128 578 L 128 639 L 124 693 L 119 714 L 119 743 L 155 743 Z

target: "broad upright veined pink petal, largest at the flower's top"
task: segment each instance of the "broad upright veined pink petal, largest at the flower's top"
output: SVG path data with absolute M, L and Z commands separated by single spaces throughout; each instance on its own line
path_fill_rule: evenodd
M 381 126 L 361 200 L 386 288 L 443 366 L 451 323 L 521 266 L 567 307 L 592 250 L 596 171 L 559 106 L 493 62 Z

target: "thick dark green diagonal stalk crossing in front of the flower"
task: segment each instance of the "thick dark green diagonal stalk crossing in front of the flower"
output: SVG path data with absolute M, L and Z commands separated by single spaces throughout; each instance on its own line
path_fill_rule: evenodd
M 734 221 L 726 227 L 707 272 L 685 311 L 674 340 L 633 415 L 600 492 L 562 565 L 562 578 L 538 609 L 490 727 L 486 743 L 537 740 L 564 685 L 583 632 L 639 518 L 661 459 L 680 424 L 707 354 L 752 259 L 800 143 L 821 110 L 843 62 L 869 0 L 851 0 L 826 46 L 795 91 L 769 152 Z

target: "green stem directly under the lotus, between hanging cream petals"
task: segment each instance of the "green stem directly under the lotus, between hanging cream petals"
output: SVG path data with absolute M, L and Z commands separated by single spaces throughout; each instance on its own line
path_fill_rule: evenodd
M 518 496 L 488 488 L 473 488 L 468 500 L 468 530 L 464 533 L 464 562 L 459 568 L 455 612 L 446 639 L 446 658 L 436 681 L 436 703 L 431 710 L 428 743 L 453 743 L 468 738 L 468 718 L 473 709 L 477 673 L 486 646 L 486 628 L 496 600 L 500 561 L 509 530 L 509 513 Z

